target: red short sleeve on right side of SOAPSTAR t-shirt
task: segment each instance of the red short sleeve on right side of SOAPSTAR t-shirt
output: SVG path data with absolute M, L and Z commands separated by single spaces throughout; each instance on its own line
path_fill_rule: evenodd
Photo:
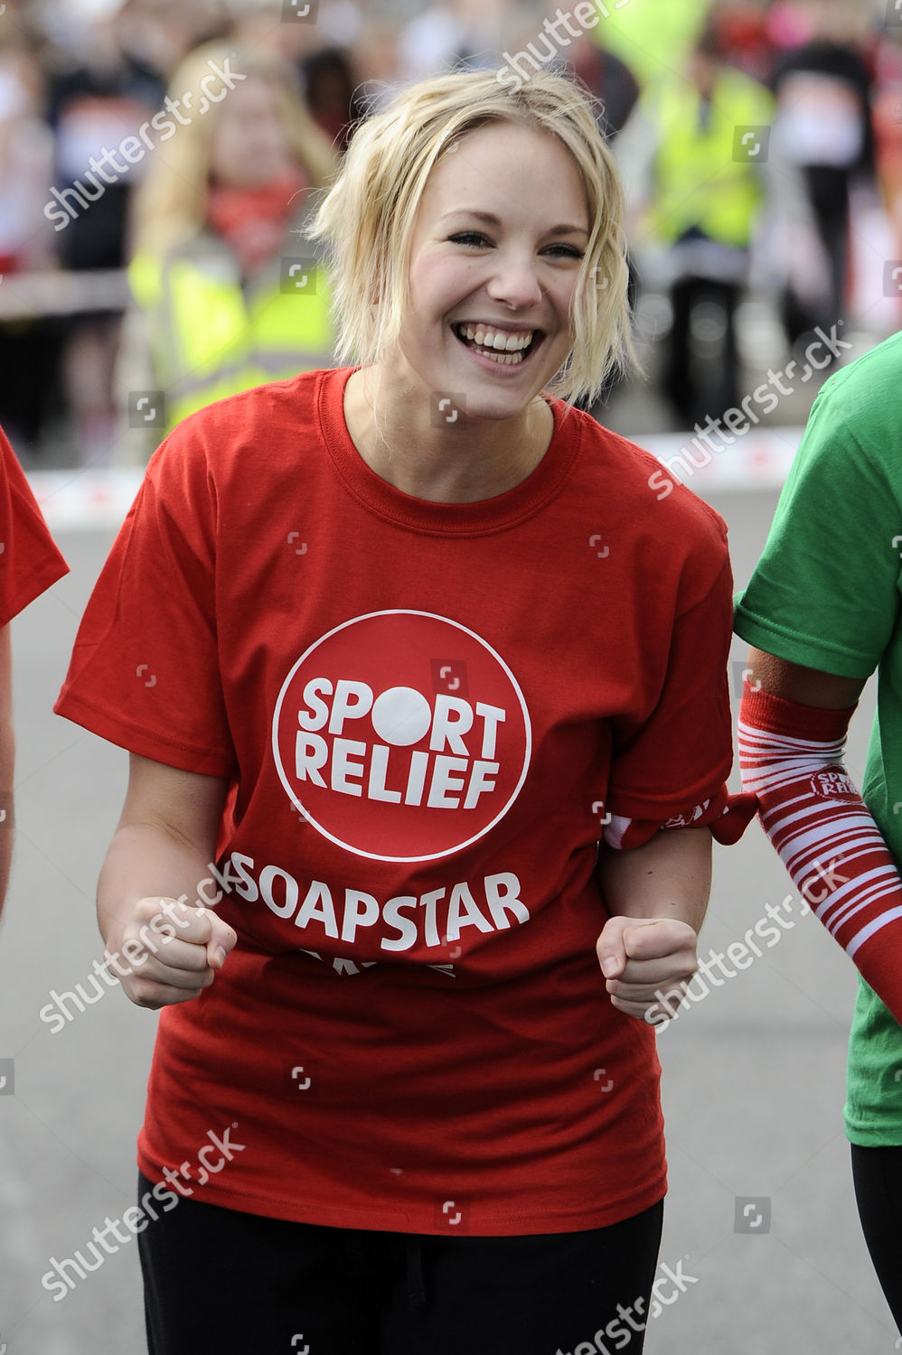
M 673 622 L 661 695 L 650 718 L 621 745 L 608 809 L 623 818 L 692 816 L 713 801 L 732 766 L 727 657 L 732 633 L 732 575 L 723 564 L 704 596 Z

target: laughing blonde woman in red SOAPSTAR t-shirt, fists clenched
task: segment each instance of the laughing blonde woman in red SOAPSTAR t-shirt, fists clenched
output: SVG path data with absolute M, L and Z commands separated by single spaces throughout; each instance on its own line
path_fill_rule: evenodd
M 176 430 L 90 603 L 153 1355 L 642 1350 L 643 1018 L 742 814 L 724 526 L 568 404 L 628 348 L 621 215 L 567 80 L 401 92 L 315 224 L 357 364 Z

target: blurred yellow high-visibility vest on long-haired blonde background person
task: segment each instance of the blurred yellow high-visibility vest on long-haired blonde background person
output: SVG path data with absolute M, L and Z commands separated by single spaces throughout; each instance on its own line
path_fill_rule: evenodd
M 326 268 L 289 268 L 286 252 L 243 287 L 232 253 L 209 236 L 165 259 L 136 255 L 129 282 L 146 317 L 167 434 L 214 400 L 331 366 Z

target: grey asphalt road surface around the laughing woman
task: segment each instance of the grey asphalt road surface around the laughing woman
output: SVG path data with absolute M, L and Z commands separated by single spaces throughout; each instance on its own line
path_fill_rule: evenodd
M 730 524 L 742 581 L 776 496 L 712 501 Z M 125 753 L 50 706 L 110 541 L 110 533 L 60 535 L 72 575 L 14 623 L 18 841 L 0 935 L 0 1075 L 9 1072 L 3 1060 L 15 1070 L 14 1089 L 0 1088 L 0 1351 L 8 1355 L 145 1351 L 134 1241 L 58 1302 L 41 1286 L 52 1256 L 72 1256 L 95 1225 L 133 1203 L 156 1024 L 118 989 L 58 1034 L 38 1015 L 50 989 L 72 989 L 102 955 L 92 900 Z M 741 667 L 743 648 L 737 642 Z M 868 692 L 853 724 L 857 776 L 871 709 Z M 661 1260 L 682 1274 L 684 1291 L 662 1287 L 675 1301 L 651 1324 L 648 1355 L 890 1355 L 897 1346 L 842 1134 L 852 965 L 814 917 L 800 916 L 757 827 L 718 854 L 700 948 L 723 951 L 787 896 L 791 925 L 779 943 L 658 1039 L 670 1160 Z M 761 1220 L 756 1230 L 734 1230 L 737 1199 L 753 1202 L 746 1224 Z M 229 1295 L 198 1293 L 198 1302 L 221 1301 Z

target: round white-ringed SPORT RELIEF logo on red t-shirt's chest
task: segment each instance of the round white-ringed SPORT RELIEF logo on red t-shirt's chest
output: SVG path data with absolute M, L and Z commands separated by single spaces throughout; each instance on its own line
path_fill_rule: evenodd
M 435 860 L 517 799 L 529 711 L 503 659 L 425 611 L 377 611 L 301 654 L 273 715 L 282 786 L 330 841 L 373 860 Z

